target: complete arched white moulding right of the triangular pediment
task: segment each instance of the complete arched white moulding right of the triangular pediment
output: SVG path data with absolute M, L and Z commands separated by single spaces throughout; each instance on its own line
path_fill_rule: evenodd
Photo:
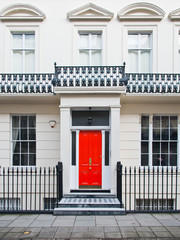
M 150 3 L 133 3 L 118 12 L 119 20 L 161 20 L 165 12 Z

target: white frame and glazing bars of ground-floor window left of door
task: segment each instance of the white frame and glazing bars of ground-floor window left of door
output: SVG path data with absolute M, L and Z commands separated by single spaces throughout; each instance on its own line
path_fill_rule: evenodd
M 37 134 L 36 134 L 37 126 L 35 125 L 35 128 L 32 128 L 32 129 L 35 129 L 35 139 L 33 139 L 33 140 L 29 140 L 29 139 L 27 139 L 27 140 L 13 140 L 13 117 L 14 116 L 17 116 L 17 117 L 32 116 L 32 117 L 35 117 L 35 123 L 36 123 L 36 114 L 12 114 L 11 115 L 11 166 L 12 167 L 17 167 L 17 168 L 19 168 L 19 167 L 20 168 L 36 167 L 37 166 Z M 27 129 L 29 129 L 29 126 L 27 126 Z M 14 144 L 14 142 L 17 142 L 17 141 L 20 142 L 20 143 L 21 142 L 27 142 L 27 143 L 35 142 L 36 143 L 36 149 L 35 149 L 35 153 L 34 153 L 34 155 L 35 155 L 35 165 L 14 165 L 13 164 L 13 155 L 14 155 L 13 144 Z M 19 151 L 19 154 L 22 154 L 21 150 Z M 28 147 L 28 153 L 27 154 L 28 154 L 28 164 L 29 164 L 29 154 L 30 154 L 29 147 Z M 21 160 L 20 160 L 20 164 L 21 164 Z

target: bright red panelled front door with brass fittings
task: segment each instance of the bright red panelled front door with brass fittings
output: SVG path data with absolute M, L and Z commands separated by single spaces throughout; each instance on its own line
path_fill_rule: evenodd
M 101 131 L 79 133 L 79 188 L 101 188 L 102 134 Z

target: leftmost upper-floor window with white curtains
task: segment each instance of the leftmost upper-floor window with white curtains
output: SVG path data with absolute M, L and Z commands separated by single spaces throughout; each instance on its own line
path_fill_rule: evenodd
M 12 33 L 13 72 L 35 71 L 35 34 Z

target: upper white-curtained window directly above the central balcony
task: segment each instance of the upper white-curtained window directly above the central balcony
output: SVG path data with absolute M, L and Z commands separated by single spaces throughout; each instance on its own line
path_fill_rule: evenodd
M 102 34 L 79 34 L 79 63 L 84 66 L 102 65 Z

